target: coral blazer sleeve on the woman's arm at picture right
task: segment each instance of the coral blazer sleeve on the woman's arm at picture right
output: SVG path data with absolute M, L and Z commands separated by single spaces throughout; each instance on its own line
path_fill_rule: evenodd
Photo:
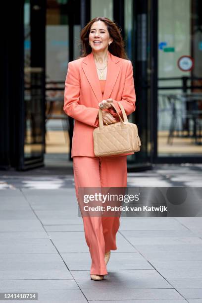
M 133 111 L 135 111 L 135 102 L 136 102 L 136 95 L 135 95 L 135 87 L 134 87 L 134 79 L 133 79 L 133 65 L 131 61 L 128 61 L 128 66 L 126 70 L 126 78 L 125 78 L 125 85 L 122 94 L 122 100 L 119 102 L 123 105 L 126 115 L 128 116 Z M 116 106 L 118 113 L 122 116 L 121 109 L 118 105 L 116 100 L 113 100 L 113 104 Z M 117 113 L 113 108 L 108 108 L 108 111 L 112 114 L 112 116 L 117 117 Z

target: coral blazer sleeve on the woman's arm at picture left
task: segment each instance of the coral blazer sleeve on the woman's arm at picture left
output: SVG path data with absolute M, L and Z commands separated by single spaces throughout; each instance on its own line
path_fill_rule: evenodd
M 79 98 L 79 71 L 73 62 L 69 62 L 65 80 L 63 110 L 68 116 L 90 126 L 97 127 L 99 108 L 87 107 L 79 104 Z

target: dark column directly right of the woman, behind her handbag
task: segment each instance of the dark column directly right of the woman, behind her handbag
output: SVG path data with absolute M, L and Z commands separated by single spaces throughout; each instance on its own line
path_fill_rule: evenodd
M 136 162 L 146 165 L 151 163 L 150 143 L 150 36 L 149 24 L 150 10 L 149 1 L 134 1 L 135 18 L 135 90 L 136 90 L 136 112 L 135 123 L 139 127 L 139 135 L 142 142 L 141 152 L 136 154 Z

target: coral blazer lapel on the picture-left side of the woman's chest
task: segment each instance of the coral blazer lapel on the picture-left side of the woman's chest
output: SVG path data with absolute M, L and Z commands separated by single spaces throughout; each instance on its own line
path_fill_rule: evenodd
M 89 84 L 94 91 L 94 94 L 99 102 L 102 101 L 101 86 L 98 78 L 98 73 L 96 69 L 96 64 L 91 52 L 83 61 L 83 71 L 89 81 Z

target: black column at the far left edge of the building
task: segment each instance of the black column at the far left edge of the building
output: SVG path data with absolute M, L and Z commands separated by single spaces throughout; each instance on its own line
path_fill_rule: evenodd
M 1 3 L 0 169 L 17 167 L 20 154 L 20 114 L 23 101 L 23 1 Z M 13 27 L 10 26 L 14 24 Z M 12 39 L 11 39 L 12 37 Z

